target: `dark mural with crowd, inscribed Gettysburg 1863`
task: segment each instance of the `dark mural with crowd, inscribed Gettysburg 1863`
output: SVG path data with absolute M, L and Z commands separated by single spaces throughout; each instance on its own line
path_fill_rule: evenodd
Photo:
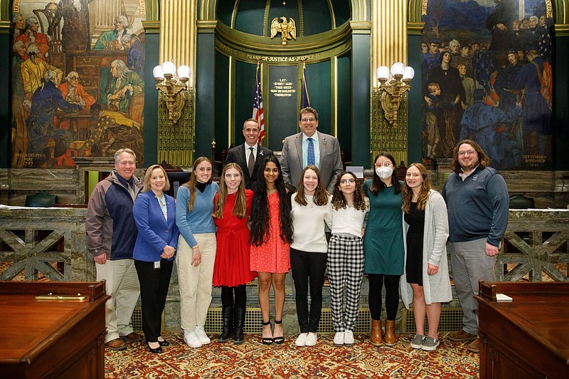
M 424 0 L 423 9 L 423 161 L 452 157 L 470 138 L 496 168 L 551 168 L 551 0 Z

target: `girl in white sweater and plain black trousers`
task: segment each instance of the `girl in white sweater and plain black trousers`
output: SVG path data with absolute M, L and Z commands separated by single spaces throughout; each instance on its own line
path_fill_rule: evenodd
M 293 242 L 290 266 L 297 296 L 300 334 L 297 346 L 314 346 L 322 311 L 322 285 L 326 272 L 328 243 L 324 224 L 331 225 L 332 208 L 320 172 L 314 165 L 304 167 L 297 193 L 292 195 Z M 310 311 L 308 290 L 310 286 Z

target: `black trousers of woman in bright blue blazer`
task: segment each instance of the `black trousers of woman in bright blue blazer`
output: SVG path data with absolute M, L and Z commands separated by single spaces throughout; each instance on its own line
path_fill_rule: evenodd
M 156 342 L 161 335 L 162 312 L 170 286 L 174 260 L 161 259 L 160 268 L 154 269 L 154 262 L 134 260 L 140 282 L 142 299 L 142 331 L 147 342 Z

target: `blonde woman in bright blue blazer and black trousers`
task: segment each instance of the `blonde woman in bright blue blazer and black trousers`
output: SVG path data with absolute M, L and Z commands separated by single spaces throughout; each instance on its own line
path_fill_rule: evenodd
M 161 315 L 179 236 L 174 198 L 164 194 L 169 188 L 164 169 L 150 166 L 144 175 L 144 189 L 132 208 L 138 229 L 132 257 L 140 282 L 142 331 L 152 353 L 161 353 L 162 346 L 169 345 L 160 336 Z

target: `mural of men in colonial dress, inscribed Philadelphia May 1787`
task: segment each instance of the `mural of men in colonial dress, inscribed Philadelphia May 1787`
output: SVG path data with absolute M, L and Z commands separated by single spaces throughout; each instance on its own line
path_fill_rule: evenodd
M 142 164 L 144 0 L 14 1 L 12 167 Z

